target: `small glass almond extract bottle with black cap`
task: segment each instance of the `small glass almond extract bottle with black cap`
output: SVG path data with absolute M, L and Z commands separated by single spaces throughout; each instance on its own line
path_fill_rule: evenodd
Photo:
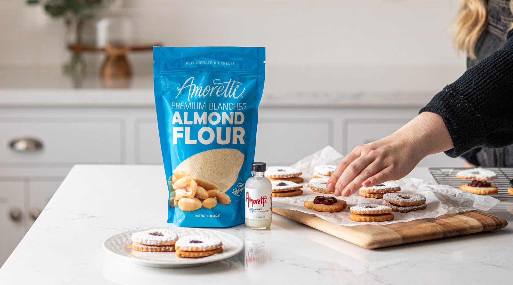
M 246 227 L 265 230 L 271 226 L 271 180 L 265 177 L 265 162 L 251 164 L 252 176 L 246 180 Z

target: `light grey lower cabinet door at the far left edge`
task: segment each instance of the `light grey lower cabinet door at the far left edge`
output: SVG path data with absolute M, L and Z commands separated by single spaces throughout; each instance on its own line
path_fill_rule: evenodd
M 25 183 L 0 180 L 0 264 L 4 264 L 26 233 Z

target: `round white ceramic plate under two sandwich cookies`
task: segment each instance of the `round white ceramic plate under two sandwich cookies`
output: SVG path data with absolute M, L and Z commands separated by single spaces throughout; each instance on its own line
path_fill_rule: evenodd
M 176 231 L 179 238 L 190 234 L 200 234 L 220 238 L 223 241 L 223 252 L 205 257 L 183 258 L 176 257 L 174 251 L 145 252 L 133 250 L 132 241 L 130 240 L 132 233 L 143 232 L 151 229 L 156 228 L 140 229 L 113 235 L 103 242 L 103 249 L 114 256 L 129 259 L 130 261 L 143 266 L 158 268 L 186 268 L 202 266 L 204 264 L 232 257 L 241 252 L 244 248 L 244 242 L 240 238 L 225 232 L 199 228 L 172 228 Z

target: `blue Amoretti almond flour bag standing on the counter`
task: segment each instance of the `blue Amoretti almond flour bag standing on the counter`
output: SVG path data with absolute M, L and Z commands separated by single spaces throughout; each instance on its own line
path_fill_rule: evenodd
M 153 87 L 169 185 L 168 222 L 244 223 L 265 48 L 154 47 Z

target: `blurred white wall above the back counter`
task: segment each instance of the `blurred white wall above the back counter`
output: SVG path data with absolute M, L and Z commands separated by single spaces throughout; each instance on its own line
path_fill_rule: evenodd
M 142 40 L 266 47 L 265 93 L 272 95 L 434 95 L 465 70 L 465 57 L 450 39 L 458 5 L 459 0 L 125 2 Z M 64 35 L 62 20 L 51 19 L 41 6 L 0 0 L 0 67 L 62 65 L 68 58 Z M 130 60 L 135 75 L 151 74 L 151 53 L 132 53 Z

